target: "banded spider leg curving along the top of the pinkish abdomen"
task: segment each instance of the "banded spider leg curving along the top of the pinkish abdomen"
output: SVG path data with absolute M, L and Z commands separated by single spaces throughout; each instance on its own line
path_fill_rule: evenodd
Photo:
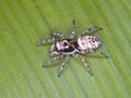
M 86 29 L 84 29 L 84 30 L 81 32 L 80 37 L 83 36 L 83 35 L 85 35 L 85 34 L 94 33 L 94 32 L 97 32 L 97 30 L 103 30 L 103 28 L 97 27 L 97 26 L 93 26 L 91 28 L 86 28 Z

